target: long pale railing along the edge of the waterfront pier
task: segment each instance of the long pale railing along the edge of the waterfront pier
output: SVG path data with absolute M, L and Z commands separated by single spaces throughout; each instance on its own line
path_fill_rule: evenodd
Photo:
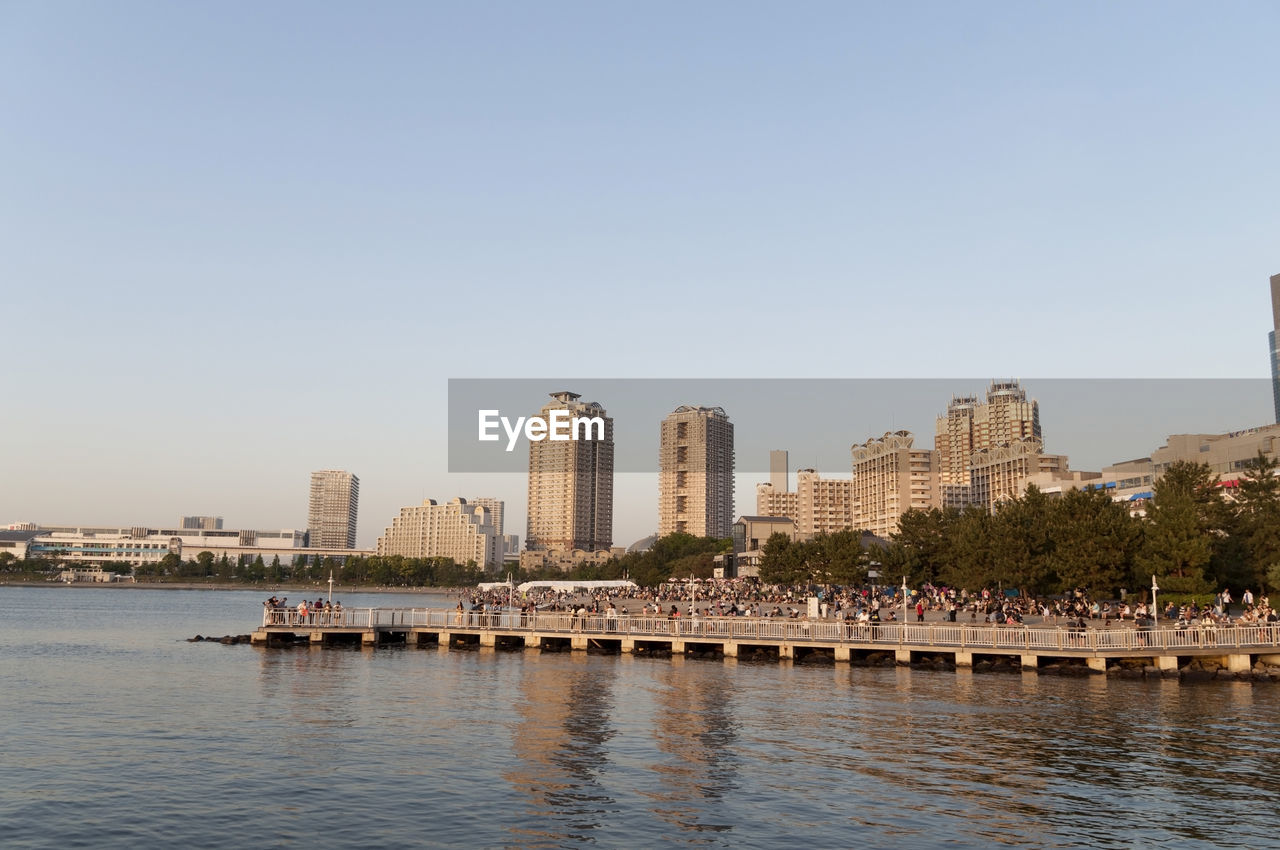
M 657 638 L 686 641 L 790 641 L 872 644 L 884 648 L 951 648 L 961 650 L 1025 649 L 1034 653 L 1280 646 L 1280 626 L 1230 625 L 1188 629 L 1066 629 L 1053 626 L 965 626 L 957 623 L 859 623 L 838 620 L 774 617 L 604 617 L 520 611 L 457 611 L 440 608 L 347 608 L 340 612 L 265 609 L 264 627 L 287 629 L 439 629 L 503 631 L 594 638 Z

